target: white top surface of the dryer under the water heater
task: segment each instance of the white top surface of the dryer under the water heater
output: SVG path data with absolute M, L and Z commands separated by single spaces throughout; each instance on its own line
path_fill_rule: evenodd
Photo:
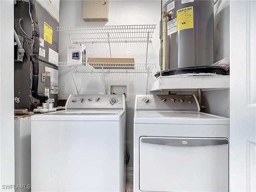
M 203 112 L 134 111 L 134 124 L 229 125 L 229 118 Z

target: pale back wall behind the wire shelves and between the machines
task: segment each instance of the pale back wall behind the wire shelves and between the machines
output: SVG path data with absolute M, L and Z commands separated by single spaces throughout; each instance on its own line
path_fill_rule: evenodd
M 157 67 L 150 73 L 148 82 L 152 82 L 154 74 L 159 70 L 159 28 L 161 4 L 159 0 L 110 0 L 108 22 L 84 22 L 82 18 L 83 1 L 60 1 L 60 26 L 94 26 L 94 25 L 138 25 L 156 24 L 152 43 L 148 47 L 148 63 L 156 63 Z M 60 32 L 59 61 L 67 61 L 67 46 L 70 44 L 67 35 Z M 108 44 L 86 44 L 87 57 L 110 57 Z M 112 57 L 134 58 L 135 63 L 146 62 L 146 43 L 111 44 Z M 136 94 L 146 94 L 147 73 L 105 72 L 108 82 L 130 82 L 130 102 L 127 102 L 126 139 L 130 153 L 128 167 L 133 166 L 133 113 Z M 77 72 L 74 80 L 79 94 L 98 94 L 105 92 L 102 73 Z M 59 67 L 58 99 L 67 99 L 69 94 L 76 94 L 69 68 Z M 149 93 L 149 86 L 148 86 Z

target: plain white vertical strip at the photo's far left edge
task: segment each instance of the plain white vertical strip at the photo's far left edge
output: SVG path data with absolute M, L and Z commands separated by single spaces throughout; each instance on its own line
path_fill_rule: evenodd
M 0 0 L 0 190 L 14 184 L 14 12 L 12 0 Z

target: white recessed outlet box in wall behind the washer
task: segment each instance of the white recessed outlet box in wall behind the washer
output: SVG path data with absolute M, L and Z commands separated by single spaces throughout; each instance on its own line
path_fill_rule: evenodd
M 130 100 L 130 83 L 108 83 L 108 94 L 124 94 L 126 102 Z

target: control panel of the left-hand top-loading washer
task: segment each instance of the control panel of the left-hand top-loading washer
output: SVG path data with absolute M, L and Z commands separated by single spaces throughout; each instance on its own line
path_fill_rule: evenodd
M 126 109 L 125 96 L 121 94 L 94 95 L 71 94 L 66 109 Z

